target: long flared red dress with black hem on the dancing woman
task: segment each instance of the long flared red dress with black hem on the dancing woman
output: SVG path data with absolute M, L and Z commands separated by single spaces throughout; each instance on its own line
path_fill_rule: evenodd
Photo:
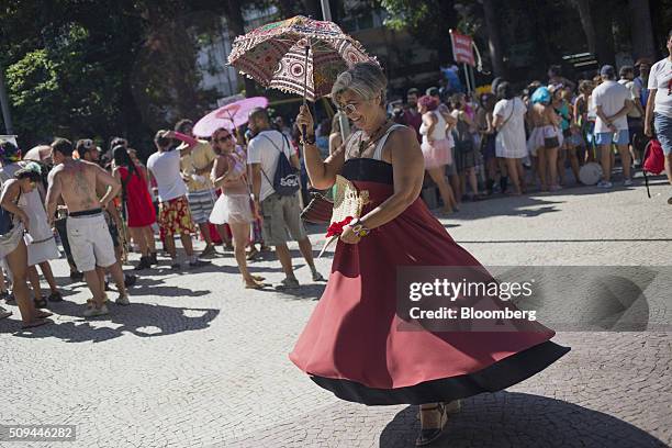
M 341 176 L 369 191 L 362 215 L 393 193 L 385 161 L 350 159 Z M 549 340 L 553 331 L 529 321 L 513 324 L 513 332 L 400 329 L 401 266 L 480 264 L 419 198 L 358 244 L 339 240 L 324 294 L 290 359 L 340 399 L 369 405 L 452 401 L 520 382 L 570 350 Z

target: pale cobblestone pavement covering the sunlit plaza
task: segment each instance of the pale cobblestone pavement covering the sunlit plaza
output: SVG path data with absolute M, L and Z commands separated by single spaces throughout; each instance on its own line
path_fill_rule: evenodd
M 660 179 L 652 199 L 643 187 L 575 188 L 463 204 L 444 224 L 485 265 L 664 266 L 671 193 Z M 320 242 L 321 229 L 311 231 Z M 88 295 L 77 283 L 51 306 L 56 325 L 20 332 L 14 317 L 0 321 L 0 424 L 77 425 L 76 443 L 0 446 L 412 447 L 416 407 L 339 401 L 289 361 L 324 290 L 293 249 L 305 285 L 292 295 L 244 290 L 228 254 L 192 272 L 147 271 L 133 304 L 103 318 L 81 317 Z M 251 266 L 282 278 L 270 257 Z M 322 272 L 329 266 L 318 260 Z M 65 261 L 54 268 L 67 284 Z M 466 400 L 433 446 L 672 443 L 672 333 L 560 332 L 555 340 L 572 351 L 506 391 Z

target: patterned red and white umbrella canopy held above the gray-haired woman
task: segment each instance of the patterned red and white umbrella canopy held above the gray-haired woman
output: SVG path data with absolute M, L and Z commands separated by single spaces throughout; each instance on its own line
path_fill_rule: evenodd
M 236 37 L 228 55 L 228 64 L 261 86 L 310 101 L 327 96 L 340 72 L 363 61 L 378 64 L 335 23 L 302 15 Z

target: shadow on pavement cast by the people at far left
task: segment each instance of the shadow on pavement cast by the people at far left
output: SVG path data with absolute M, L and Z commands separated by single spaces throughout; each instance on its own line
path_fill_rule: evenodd
M 0 333 L 14 333 L 24 338 L 56 337 L 66 343 L 102 343 L 124 333 L 138 337 L 172 335 L 181 332 L 203 329 L 220 314 L 215 309 L 189 309 L 147 303 L 131 303 L 128 306 L 108 305 L 110 314 L 86 320 L 83 305 L 59 302 L 52 306 L 54 324 L 21 329 L 20 321 L 3 320 Z M 58 316 L 79 317 L 78 321 L 58 322 Z

